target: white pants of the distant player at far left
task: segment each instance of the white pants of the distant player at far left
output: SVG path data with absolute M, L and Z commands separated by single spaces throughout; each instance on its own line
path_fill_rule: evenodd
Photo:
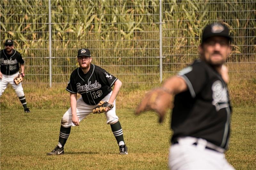
M 7 85 L 8 84 L 11 84 L 13 89 L 15 90 L 16 94 L 18 97 L 22 97 L 24 96 L 24 92 L 23 92 L 23 88 L 22 88 L 22 85 L 21 83 L 19 85 L 16 85 L 13 81 L 14 77 L 18 76 L 19 75 L 19 72 L 13 74 L 13 75 L 5 75 L 5 74 L 2 74 L 3 75 L 3 78 L 0 79 L 0 96 L 2 96 L 4 90 L 6 89 Z

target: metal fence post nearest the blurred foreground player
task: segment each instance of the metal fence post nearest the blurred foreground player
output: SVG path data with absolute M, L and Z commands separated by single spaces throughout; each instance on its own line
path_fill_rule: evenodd
M 160 55 L 160 83 L 163 80 L 163 56 L 162 56 L 162 0 L 159 0 L 159 55 Z

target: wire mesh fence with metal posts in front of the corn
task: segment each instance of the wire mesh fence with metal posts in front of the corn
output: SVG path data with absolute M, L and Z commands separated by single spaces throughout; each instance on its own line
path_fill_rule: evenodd
M 0 47 L 12 39 L 25 83 L 66 83 L 79 48 L 123 83 L 151 84 L 198 58 L 205 25 L 231 28 L 231 79 L 256 77 L 256 0 L 2 0 Z

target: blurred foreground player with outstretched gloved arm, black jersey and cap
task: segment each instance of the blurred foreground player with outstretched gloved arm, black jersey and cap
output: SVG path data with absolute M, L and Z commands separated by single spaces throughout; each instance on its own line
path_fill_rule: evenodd
M 223 63 L 231 52 L 230 40 L 227 26 L 221 23 L 206 26 L 199 46 L 200 60 L 167 79 L 162 87 L 152 90 L 136 110 L 139 114 L 148 106 L 163 118 L 164 111 L 159 111 L 158 107 L 164 106 L 157 100 L 168 96 L 166 94 L 169 97 L 175 94 L 169 152 L 172 170 L 234 169 L 224 155 L 228 149 L 232 110 L 228 69 Z M 162 91 L 163 95 L 157 96 L 154 91 Z M 146 100 L 156 102 L 156 106 Z

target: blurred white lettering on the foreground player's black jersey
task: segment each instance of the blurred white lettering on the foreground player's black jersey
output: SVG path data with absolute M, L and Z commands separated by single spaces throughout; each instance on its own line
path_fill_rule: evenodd
M 223 87 L 220 80 L 212 84 L 212 99 L 212 105 L 215 106 L 216 111 L 229 106 L 227 88 Z

